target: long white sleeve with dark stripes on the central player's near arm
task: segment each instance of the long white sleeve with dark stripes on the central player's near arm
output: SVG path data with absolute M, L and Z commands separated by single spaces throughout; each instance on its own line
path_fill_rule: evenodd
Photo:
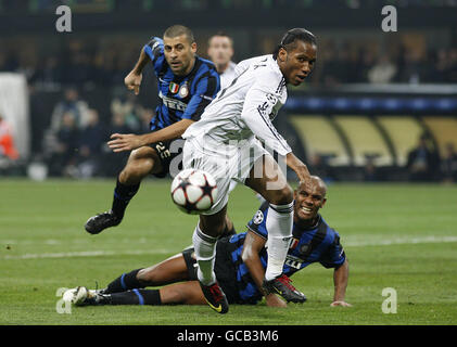
M 268 147 L 275 150 L 280 155 L 287 155 L 292 152 L 287 141 L 278 133 L 271 124 L 270 115 L 274 113 L 275 105 L 279 102 L 276 88 L 282 81 L 276 82 L 278 79 L 275 75 L 258 76 L 247 91 L 241 119 L 251 129 L 251 131 Z M 275 86 L 276 85 L 276 86 Z

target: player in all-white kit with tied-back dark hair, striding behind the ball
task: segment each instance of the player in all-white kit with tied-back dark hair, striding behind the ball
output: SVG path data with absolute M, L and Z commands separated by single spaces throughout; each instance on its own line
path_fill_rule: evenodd
M 294 301 L 303 296 L 291 290 L 282 274 L 292 237 L 293 192 L 279 166 L 289 166 L 305 184 L 310 181 L 309 172 L 271 120 L 285 103 L 285 86 L 304 81 L 316 61 L 316 52 L 313 34 L 303 28 L 289 30 L 272 55 L 238 64 L 230 86 L 219 91 L 201 119 L 182 134 L 183 168 L 210 172 L 218 187 L 215 204 L 200 215 L 192 241 L 200 285 L 210 306 L 219 313 L 228 311 L 228 303 L 214 274 L 215 246 L 226 227 L 232 179 L 259 193 L 271 207 L 266 221 L 270 235 L 264 294 L 277 293 Z M 279 166 L 257 139 L 281 156 Z

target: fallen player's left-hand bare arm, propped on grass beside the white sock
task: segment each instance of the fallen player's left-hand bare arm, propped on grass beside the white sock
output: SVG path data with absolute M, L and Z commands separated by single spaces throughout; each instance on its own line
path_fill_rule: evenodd
M 252 231 L 249 231 L 244 240 L 243 253 L 241 255 L 243 262 L 246 265 L 252 279 L 254 280 L 254 283 L 257 285 L 262 293 L 262 282 L 265 278 L 265 269 L 262 266 L 261 257 L 258 254 L 265 246 L 265 239 L 258 236 Z M 265 299 L 267 306 L 287 307 L 287 304 L 275 294 L 266 295 Z

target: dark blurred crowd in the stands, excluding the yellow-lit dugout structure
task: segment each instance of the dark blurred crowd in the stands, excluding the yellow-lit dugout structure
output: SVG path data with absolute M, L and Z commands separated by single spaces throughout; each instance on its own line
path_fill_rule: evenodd
M 74 14 L 68 34 L 55 30 L 61 4 Z M 381 29 L 384 5 L 397 9 L 396 33 Z M 169 25 L 191 27 L 204 57 L 211 35 L 227 33 L 236 62 L 270 53 L 291 27 L 310 29 L 318 61 L 306 86 L 294 90 L 306 94 L 355 83 L 457 85 L 456 18 L 457 0 L 0 0 L 0 73 L 27 78 L 31 140 L 23 164 L 45 163 L 51 177 L 106 177 L 127 156 L 107 150 L 109 136 L 148 131 L 157 103 L 150 67 L 139 97 L 125 90 L 124 77 L 149 38 Z M 454 144 L 439 153 L 432 140 L 428 133 L 418 139 L 403 177 L 457 181 Z M 338 179 L 322 158 L 308 159 Z M 11 167 L 3 174 L 24 174 L 22 166 Z M 358 177 L 376 180 L 375 171 L 368 159 Z

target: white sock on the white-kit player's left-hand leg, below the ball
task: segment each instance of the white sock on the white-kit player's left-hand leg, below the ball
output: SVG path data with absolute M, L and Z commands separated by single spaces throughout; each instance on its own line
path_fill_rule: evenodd
M 214 260 L 216 256 L 217 237 L 208 236 L 200 230 L 196 224 L 192 236 L 195 258 L 199 264 L 196 277 L 203 285 L 211 285 L 216 282 L 214 273 Z

